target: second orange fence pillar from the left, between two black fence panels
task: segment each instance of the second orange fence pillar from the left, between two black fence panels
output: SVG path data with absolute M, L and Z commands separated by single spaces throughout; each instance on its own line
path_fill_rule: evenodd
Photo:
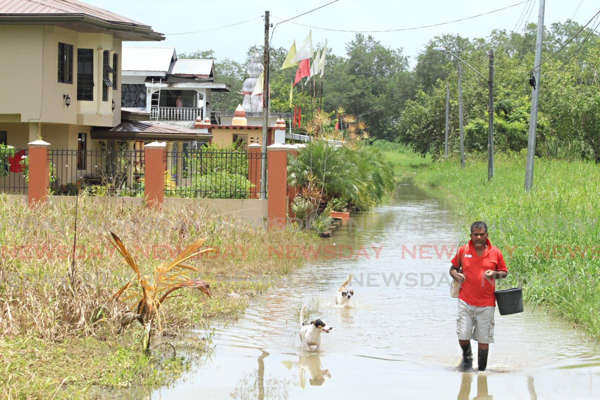
M 148 207 L 163 205 L 166 149 L 164 142 L 144 146 L 144 198 Z

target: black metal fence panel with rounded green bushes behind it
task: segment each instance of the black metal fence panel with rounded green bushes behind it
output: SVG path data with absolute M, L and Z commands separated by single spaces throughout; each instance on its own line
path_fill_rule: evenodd
M 263 157 L 266 162 L 266 153 L 231 148 L 169 151 L 165 194 L 205 199 L 260 197 L 260 183 L 253 185 L 250 178 L 260 177 Z

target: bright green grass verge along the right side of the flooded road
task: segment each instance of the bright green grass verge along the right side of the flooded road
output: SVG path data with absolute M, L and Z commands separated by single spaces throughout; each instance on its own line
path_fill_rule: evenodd
M 599 338 L 600 166 L 536 160 L 534 187 L 525 193 L 524 154 L 498 154 L 495 161 L 491 182 L 485 161 L 465 169 L 435 163 L 415 181 L 443 188 L 466 223 L 488 222 L 509 268 L 502 287 L 523 285 L 526 300 L 551 306 Z

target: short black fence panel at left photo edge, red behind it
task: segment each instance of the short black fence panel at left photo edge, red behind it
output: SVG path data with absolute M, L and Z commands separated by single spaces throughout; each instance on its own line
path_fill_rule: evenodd
M 0 192 L 27 194 L 28 149 L 0 146 Z

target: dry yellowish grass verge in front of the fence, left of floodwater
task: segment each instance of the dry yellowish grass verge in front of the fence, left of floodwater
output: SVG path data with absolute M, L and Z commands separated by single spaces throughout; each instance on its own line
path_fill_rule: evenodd
M 182 332 L 238 318 L 271 279 L 302 263 L 272 248 L 316 240 L 201 208 L 157 212 L 86 199 L 79 204 L 75 279 L 70 281 L 74 206 L 31 210 L 0 196 L 0 398 L 89 398 L 91 389 L 169 383 L 190 365 L 191 357 L 179 356 L 181 351 L 198 354 L 210 343 L 209 332 L 192 340 Z M 212 296 L 181 290 L 161 307 L 161 333 L 154 344 L 175 344 L 178 357 L 171 357 L 168 346 L 143 356 L 140 325 L 121 329 L 122 311 L 133 304 L 111 297 L 133 276 L 106 239 L 109 231 L 121 237 L 142 274 L 173 260 L 199 237 L 208 237 L 206 245 L 218 250 L 188 262 L 202 271 L 190 278 L 208 281 Z

